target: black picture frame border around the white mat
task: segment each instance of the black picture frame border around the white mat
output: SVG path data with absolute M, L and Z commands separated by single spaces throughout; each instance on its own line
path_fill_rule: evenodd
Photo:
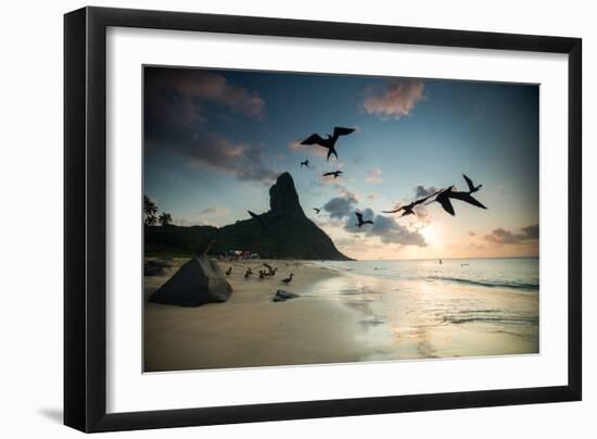
M 568 54 L 568 385 L 107 414 L 105 57 L 109 26 Z M 582 40 L 579 38 L 104 8 L 84 8 L 65 14 L 65 425 L 93 432 L 580 401 L 581 112 Z

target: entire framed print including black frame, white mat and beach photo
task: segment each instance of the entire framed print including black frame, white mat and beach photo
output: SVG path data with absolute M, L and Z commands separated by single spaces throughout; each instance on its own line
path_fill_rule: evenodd
M 65 424 L 580 400 L 581 48 L 66 14 Z

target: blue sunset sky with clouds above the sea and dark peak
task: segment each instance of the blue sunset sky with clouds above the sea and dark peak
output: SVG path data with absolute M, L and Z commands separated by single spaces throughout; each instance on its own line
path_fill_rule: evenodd
M 177 225 L 224 226 L 269 209 L 282 172 L 307 216 L 358 260 L 536 256 L 538 86 L 259 71 L 144 67 L 144 193 Z M 303 146 L 355 133 L 339 159 Z M 310 168 L 300 166 L 309 160 Z M 342 176 L 322 177 L 341 170 Z M 482 188 L 386 214 L 440 188 Z M 313 208 L 322 208 L 316 214 Z M 355 211 L 373 225 L 355 227 Z

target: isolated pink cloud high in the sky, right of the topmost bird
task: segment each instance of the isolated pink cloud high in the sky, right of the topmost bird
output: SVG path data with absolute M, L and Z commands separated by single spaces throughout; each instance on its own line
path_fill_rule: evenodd
M 363 101 L 368 114 L 383 120 L 399 120 L 410 114 L 417 102 L 423 98 L 424 84 L 418 79 L 395 78 L 385 87 L 369 87 Z

